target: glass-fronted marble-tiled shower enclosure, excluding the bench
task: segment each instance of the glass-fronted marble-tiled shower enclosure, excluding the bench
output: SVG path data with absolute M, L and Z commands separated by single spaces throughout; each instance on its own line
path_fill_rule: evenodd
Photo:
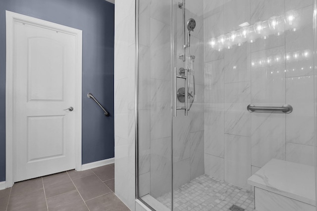
M 248 178 L 271 159 L 315 167 L 314 0 L 137 0 L 137 11 L 143 203 L 251 211 Z

